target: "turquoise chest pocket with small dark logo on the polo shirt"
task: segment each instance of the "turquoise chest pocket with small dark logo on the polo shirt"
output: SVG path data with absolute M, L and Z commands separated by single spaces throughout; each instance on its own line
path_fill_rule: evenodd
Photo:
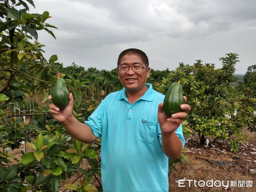
M 157 121 L 148 121 L 140 117 L 137 122 L 137 140 L 153 143 L 157 134 Z

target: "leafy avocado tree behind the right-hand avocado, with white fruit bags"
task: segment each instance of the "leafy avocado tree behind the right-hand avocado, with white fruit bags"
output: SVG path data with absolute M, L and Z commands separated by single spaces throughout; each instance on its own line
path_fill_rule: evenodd
M 231 150 L 237 151 L 238 144 L 248 139 L 242 129 L 252 122 L 256 105 L 253 101 L 244 105 L 247 98 L 234 94 L 237 87 L 231 83 L 236 80 L 234 73 L 238 56 L 228 53 L 220 58 L 220 69 L 215 69 L 215 64 L 203 64 L 201 60 L 192 66 L 180 63 L 166 79 L 154 85 L 162 93 L 166 93 L 173 82 L 183 86 L 188 104 L 192 106 L 184 127 L 192 128 L 202 145 L 207 138 L 230 140 Z

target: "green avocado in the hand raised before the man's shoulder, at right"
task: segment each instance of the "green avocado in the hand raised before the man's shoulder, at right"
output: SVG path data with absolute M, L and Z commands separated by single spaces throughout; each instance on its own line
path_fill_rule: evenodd
M 174 113 L 181 112 L 180 105 L 182 105 L 183 102 L 182 86 L 178 83 L 171 84 L 163 100 L 164 113 L 166 113 L 167 116 L 172 116 Z

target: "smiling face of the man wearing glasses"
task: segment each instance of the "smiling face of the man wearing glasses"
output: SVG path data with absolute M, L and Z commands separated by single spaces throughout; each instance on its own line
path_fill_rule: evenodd
M 135 66 L 141 64 L 146 66 L 143 63 L 142 59 L 137 55 L 124 55 L 121 59 L 119 67 L 122 66 Z M 139 92 L 145 88 L 145 83 L 149 77 L 150 67 L 143 68 L 140 72 L 134 72 L 132 68 L 128 68 L 127 73 L 120 73 L 117 70 L 118 79 L 121 81 L 122 85 L 126 88 L 128 92 Z

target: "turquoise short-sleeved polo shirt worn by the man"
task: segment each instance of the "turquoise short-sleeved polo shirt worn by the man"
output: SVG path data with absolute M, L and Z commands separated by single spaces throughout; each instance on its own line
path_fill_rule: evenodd
M 164 95 L 148 90 L 133 105 L 125 88 L 109 94 L 85 123 L 102 137 L 101 177 L 104 192 L 168 192 L 168 157 L 161 148 L 157 122 Z M 182 127 L 175 131 L 185 143 Z

